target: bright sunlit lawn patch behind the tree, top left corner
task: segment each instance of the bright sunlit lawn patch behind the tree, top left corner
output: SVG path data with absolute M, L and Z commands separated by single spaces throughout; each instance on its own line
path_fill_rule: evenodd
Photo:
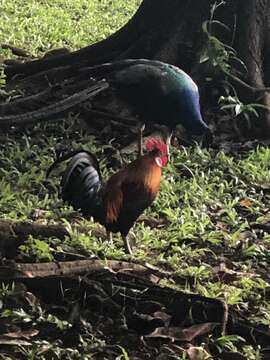
M 0 44 L 38 56 L 105 39 L 133 15 L 141 0 L 0 0 Z

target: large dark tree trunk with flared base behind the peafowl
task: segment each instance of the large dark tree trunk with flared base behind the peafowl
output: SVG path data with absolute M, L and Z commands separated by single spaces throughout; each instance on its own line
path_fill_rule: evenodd
M 202 23 L 209 20 L 213 3 L 212 0 L 144 0 L 134 17 L 109 38 L 73 53 L 8 66 L 8 81 L 18 74 L 25 78 L 24 84 L 33 77 L 37 79 L 36 74 L 41 77 L 51 74 L 51 78 L 60 81 L 73 68 L 125 58 L 157 59 L 191 73 L 207 45 Z M 270 108 L 270 93 L 261 89 L 270 84 L 269 1 L 227 0 L 218 8 L 215 18 L 231 29 L 230 33 L 223 32 L 220 39 L 235 47 L 247 68 L 242 79 L 247 86 L 237 79 L 229 80 L 243 101 L 260 101 Z M 199 69 L 202 71 L 201 66 Z M 263 132 L 269 134 L 268 110 L 262 112 L 262 119 Z

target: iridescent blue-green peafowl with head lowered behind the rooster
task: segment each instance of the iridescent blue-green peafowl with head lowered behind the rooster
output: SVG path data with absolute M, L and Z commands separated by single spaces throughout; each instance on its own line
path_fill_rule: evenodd
M 198 87 L 191 77 L 178 67 L 161 61 L 146 59 L 127 59 L 101 64 L 88 68 L 77 69 L 74 81 L 80 82 L 93 78 L 99 81 L 94 95 L 110 91 L 123 102 L 123 106 L 131 108 L 139 116 L 142 123 L 158 123 L 171 130 L 179 124 L 192 135 L 203 135 L 209 128 L 202 119 L 199 103 Z M 105 82 L 100 80 L 105 79 Z M 81 90 L 82 96 L 73 97 L 70 107 L 86 101 L 87 94 L 91 97 L 91 86 Z M 87 92 L 85 94 L 85 92 Z M 95 105 L 94 96 L 88 100 Z M 105 97 L 106 102 L 106 97 Z M 62 101 L 63 103 L 63 101 Z M 53 107 L 53 108 L 52 108 Z M 69 108 L 68 98 L 64 107 L 57 103 L 50 107 L 50 114 L 55 115 Z M 46 109 L 35 112 L 32 119 L 46 116 Z M 1 117 L 0 117 L 1 120 Z

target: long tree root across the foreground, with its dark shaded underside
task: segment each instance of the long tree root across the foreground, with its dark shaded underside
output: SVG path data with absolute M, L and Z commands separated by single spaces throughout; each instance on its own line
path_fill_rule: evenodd
M 172 327 L 179 326 L 184 319 L 187 321 L 192 314 L 191 318 L 196 318 L 196 323 L 219 323 L 219 336 L 238 334 L 262 345 L 270 341 L 269 334 L 239 317 L 223 301 L 160 287 L 157 280 L 166 277 L 169 278 L 170 274 L 151 266 L 113 260 L 13 264 L 0 268 L 1 281 L 23 282 L 28 291 L 47 303 L 59 303 L 72 294 L 73 298 L 80 299 L 83 306 L 95 305 L 100 309 L 102 304 L 102 309 L 107 309 L 110 314 L 125 308 L 129 317 L 133 307 L 138 314 L 146 311 L 143 307 L 147 304 L 154 308 L 159 305 L 170 314 Z M 142 319 L 137 320 L 140 325 Z M 139 329 L 142 331 L 140 326 Z

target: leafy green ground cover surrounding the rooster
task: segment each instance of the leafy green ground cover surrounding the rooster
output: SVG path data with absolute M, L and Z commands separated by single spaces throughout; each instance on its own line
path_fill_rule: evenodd
M 59 133 L 65 133 L 65 141 L 72 143 L 76 140 L 72 128 L 64 130 L 63 126 L 58 127 L 62 129 Z M 49 180 L 49 186 L 45 180 L 54 158 L 53 149 L 63 142 L 62 135 L 47 138 L 46 133 L 53 132 L 52 128 L 42 136 L 33 131 L 33 137 L 24 135 L 19 141 L 10 139 L 1 145 L 1 218 L 33 219 L 35 211 L 41 210 L 40 222 L 61 222 L 68 217 L 65 221 L 71 223 L 71 228 L 72 222 L 78 223 L 79 214 L 57 197 L 59 179 Z M 87 134 L 78 133 L 77 141 L 104 157 L 102 148 L 88 142 Z M 105 167 L 105 161 L 102 166 Z M 258 148 L 240 160 L 199 147 L 174 149 L 171 163 L 164 171 L 160 194 L 145 213 L 148 222 L 164 219 L 167 225 L 151 228 L 144 222 L 137 223 L 135 257 L 165 264 L 181 276 L 192 277 L 189 284 L 192 291 L 225 298 L 230 304 L 245 302 L 247 289 L 267 284 L 252 278 L 250 282 L 240 278 L 232 285 L 213 284 L 209 280 L 216 278 L 215 266 L 221 258 L 233 261 L 233 269 L 253 275 L 260 262 L 268 261 L 269 235 L 256 233 L 250 227 L 269 220 L 270 197 L 263 190 L 270 184 L 269 167 L 268 148 Z M 103 170 L 106 175 L 108 171 Z M 88 230 L 98 226 L 85 220 L 81 224 Z M 119 237 L 115 236 L 115 245 L 108 248 L 101 239 L 76 231 L 76 226 L 73 230 L 73 245 L 80 244 L 94 254 L 102 252 L 105 257 L 126 257 Z M 240 293 L 236 296 L 237 291 Z

